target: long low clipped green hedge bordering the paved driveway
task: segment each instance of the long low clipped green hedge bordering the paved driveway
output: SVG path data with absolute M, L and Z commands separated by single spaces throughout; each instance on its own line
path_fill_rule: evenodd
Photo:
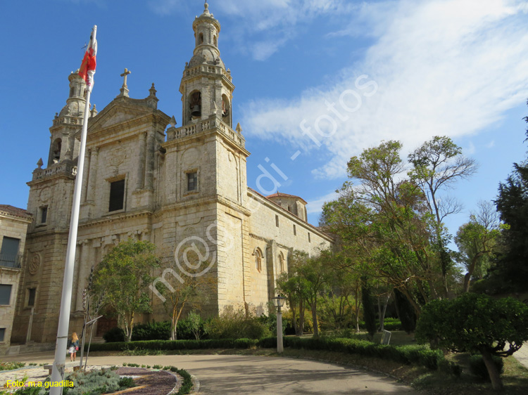
M 275 348 L 276 337 L 265 337 L 260 340 L 254 339 L 207 339 L 207 340 L 150 340 L 146 342 L 115 342 L 92 344 L 91 351 L 124 351 L 134 349 L 147 350 L 192 350 L 192 349 L 249 349 L 254 347 Z M 439 361 L 444 360 L 444 354 L 440 350 L 431 350 L 425 346 L 391 346 L 375 344 L 367 340 L 359 339 L 337 339 L 332 337 L 301 338 L 284 337 L 284 347 L 292 349 L 325 350 L 344 352 L 346 354 L 358 354 L 362 356 L 373 356 L 388 359 L 407 365 L 423 365 L 426 368 L 436 370 Z

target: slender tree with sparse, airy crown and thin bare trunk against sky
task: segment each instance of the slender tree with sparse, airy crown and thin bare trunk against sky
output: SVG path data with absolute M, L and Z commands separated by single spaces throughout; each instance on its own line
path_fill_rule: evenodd
M 447 251 L 449 236 L 444 219 L 460 212 L 460 204 L 449 196 L 439 194 L 451 188 L 460 179 L 467 179 L 477 171 L 477 163 L 462 155 L 462 149 L 446 136 L 434 136 L 408 155 L 413 169 L 410 179 L 427 196 L 427 205 L 434 218 L 436 250 L 441 264 L 444 296 L 448 293 L 448 271 L 453 266 Z

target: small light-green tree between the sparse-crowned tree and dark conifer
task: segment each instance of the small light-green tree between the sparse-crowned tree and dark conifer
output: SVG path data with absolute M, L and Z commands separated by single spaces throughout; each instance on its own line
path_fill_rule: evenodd
M 491 202 L 478 203 L 479 211 L 470 216 L 470 221 L 458 229 L 455 243 L 463 257 L 467 273 L 463 292 L 469 292 L 470 281 L 475 271 L 482 273 L 482 264 L 494 254 L 500 235 L 500 221 Z

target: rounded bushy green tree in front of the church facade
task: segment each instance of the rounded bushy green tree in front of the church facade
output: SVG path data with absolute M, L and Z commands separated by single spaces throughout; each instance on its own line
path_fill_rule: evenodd
M 146 290 L 153 280 L 151 272 L 160 260 L 151 242 L 128 240 L 115 246 L 94 271 L 94 295 L 103 293 L 108 311 L 118 317 L 118 326 L 132 339 L 136 313 L 151 311 Z

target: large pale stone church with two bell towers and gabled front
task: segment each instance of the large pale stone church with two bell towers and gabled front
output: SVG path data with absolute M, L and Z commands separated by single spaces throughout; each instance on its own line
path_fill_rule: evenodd
M 233 127 L 234 85 L 220 58 L 220 23 L 207 4 L 193 30 L 196 47 L 180 84 L 181 127 L 158 110 L 153 84 L 146 98 L 130 98 L 127 70 L 120 94 L 101 112 L 91 110 L 71 330 L 82 328 L 90 269 L 129 238 L 153 242 L 165 266 L 182 242 L 201 242 L 210 259 L 206 275 L 215 280 L 208 306 L 213 314 L 229 305 L 264 312 L 294 250 L 315 254 L 332 245 L 329 235 L 308 224 L 301 197 L 265 197 L 248 188 L 250 153 L 241 127 Z M 84 80 L 72 73 L 69 86 L 66 105 L 50 128 L 47 165 L 40 160 L 28 182 L 27 211 L 34 221 L 25 244 L 13 342 L 25 340 L 30 318 L 31 340 L 56 338 L 85 105 Z M 153 304 L 155 313 L 144 319 L 166 319 L 154 295 Z

